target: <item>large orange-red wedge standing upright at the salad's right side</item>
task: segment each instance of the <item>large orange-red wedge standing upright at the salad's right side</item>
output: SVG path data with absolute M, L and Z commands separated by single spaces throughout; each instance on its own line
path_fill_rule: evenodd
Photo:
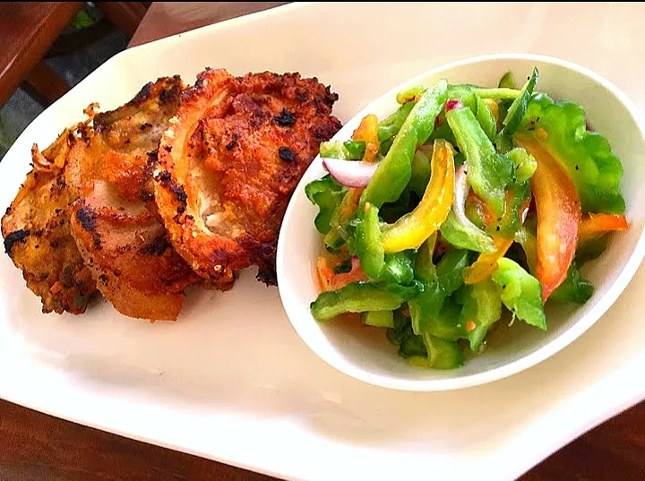
M 538 140 L 520 133 L 514 140 L 538 160 L 531 190 L 538 210 L 536 277 L 542 284 L 542 300 L 546 301 L 566 279 L 575 255 L 581 202 L 572 178 Z

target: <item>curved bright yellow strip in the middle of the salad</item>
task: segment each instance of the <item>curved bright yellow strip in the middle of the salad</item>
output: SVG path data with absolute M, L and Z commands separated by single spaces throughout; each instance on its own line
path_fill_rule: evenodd
M 448 216 L 454 194 L 454 158 L 452 145 L 434 142 L 430 182 L 415 210 L 401 217 L 383 231 L 385 253 L 417 249 Z

